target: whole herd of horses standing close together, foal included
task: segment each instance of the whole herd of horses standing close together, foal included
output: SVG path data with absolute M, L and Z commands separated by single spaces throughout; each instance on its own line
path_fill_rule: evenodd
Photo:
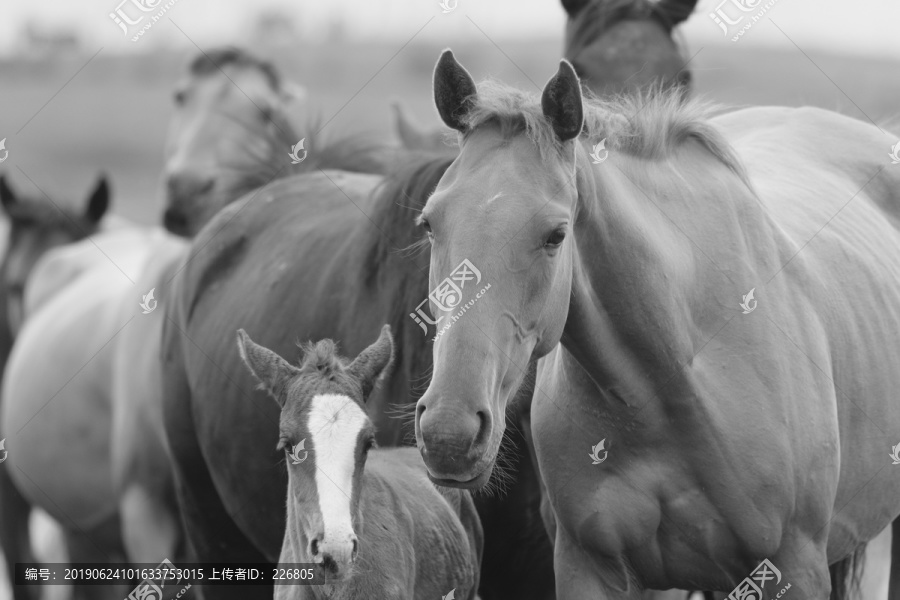
M 764 560 L 793 597 L 849 597 L 900 515 L 894 140 L 713 116 L 672 39 L 693 5 L 564 1 L 539 96 L 447 50 L 457 145 L 401 113 L 405 147 L 307 137 L 299 163 L 295 88 L 205 53 L 168 231 L 105 216 L 105 180 L 79 214 L 0 179 L 8 568 L 40 507 L 75 562 L 327 581 L 208 598 L 758 600 Z

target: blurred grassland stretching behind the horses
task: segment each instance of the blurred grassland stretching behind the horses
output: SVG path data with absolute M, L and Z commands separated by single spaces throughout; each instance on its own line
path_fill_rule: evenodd
M 495 77 L 534 91 L 553 74 L 561 52 L 555 39 L 499 46 L 502 51 L 488 42 L 469 43 L 454 51 L 476 79 Z M 321 122 L 331 120 L 325 135 L 392 136 L 392 99 L 403 100 L 420 124 L 438 124 L 431 70 L 442 47 L 412 43 L 399 52 L 398 47 L 370 43 L 251 50 L 306 86 L 313 114 Z M 688 49 L 689 56 L 694 53 L 690 67 L 696 90 L 713 101 L 816 105 L 900 133 L 900 63 L 807 57 L 796 49 L 767 51 L 740 43 Z M 0 173 L 9 175 L 16 189 L 36 193 L 21 169 L 55 201 L 72 203 L 83 202 L 102 170 L 112 177 L 115 212 L 158 222 L 171 93 L 193 53 L 114 56 L 101 51 L 73 78 L 89 56 L 0 62 L 0 139 L 7 138 L 10 152 Z M 301 136 L 303 129 L 298 123 Z M 891 135 L 886 136 L 885 153 L 896 142 Z

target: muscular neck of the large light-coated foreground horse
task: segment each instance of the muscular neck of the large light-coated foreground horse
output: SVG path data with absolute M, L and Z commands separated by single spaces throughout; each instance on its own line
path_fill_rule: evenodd
M 579 148 L 572 299 L 561 343 L 601 397 L 644 405 L 663 386 L 688 384 L 683 367 L 721 325 L 704 311 L 735 304 L 729 279 L 752 279 L 740 242 L 768 225 L 745 210 L 752 191 L 699 144 L 686 142 L 662 160 L 611 152 L 594 165 L 585 154 Z M 727 278 L 710 254 L 725 257 Z

